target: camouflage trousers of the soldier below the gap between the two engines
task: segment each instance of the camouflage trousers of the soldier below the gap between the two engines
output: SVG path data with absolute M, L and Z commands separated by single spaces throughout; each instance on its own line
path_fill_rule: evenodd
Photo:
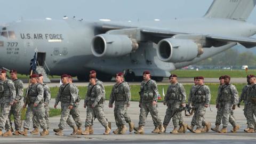
M 150 113 L 155 126 L 162 125 L 162 120 L 158 115 L 157 105 L 153 105 L 152 102 L 148 102 L 141 103 L 139 126 L 145 126 L 148 113 Z

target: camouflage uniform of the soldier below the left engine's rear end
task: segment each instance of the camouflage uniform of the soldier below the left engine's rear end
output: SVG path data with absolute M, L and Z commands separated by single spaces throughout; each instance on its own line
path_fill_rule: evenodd
M 126 105 L 130 105 L 131 101 L 130 85 L 127 82 L 122 82 L 121 84 L 115 84 L 113 86 L 110 94 L 109 105 L 113 105 L 114 101 L 116 126 L 121 127 L 122 125 L 125 125 L 127 121 L 131 122 L 131 118 L 127 115 L 126 107 Z

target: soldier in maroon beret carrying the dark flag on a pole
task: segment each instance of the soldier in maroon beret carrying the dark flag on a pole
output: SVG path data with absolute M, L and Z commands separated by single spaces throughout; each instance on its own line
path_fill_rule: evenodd
M 20 134 L 27 136 L 28 130 L 30 128 L 30 124 L 32 122 L 33 117 L 35 116 L 37 118 L 37 121 L 39 122 L 39 125 L 43 129 L 43 132 L 41 132 L 41 135 L 47 135 L 49 134 L 49 131 L 47 130 L 47 124 L 45 121 L 45 108 L 44 108 L 44 88 L 43 85 L 40 83 L 37 83 L 37 74 L 33 74 L 30 77 L 31 84 L 28 87 L 28 95 L 26 97 L 26 103 L 23 105 L 23 108 L 26 108 L 28 105 L 27 111 L 26 111 L 26 119 L 24 122 L 24 130 Z

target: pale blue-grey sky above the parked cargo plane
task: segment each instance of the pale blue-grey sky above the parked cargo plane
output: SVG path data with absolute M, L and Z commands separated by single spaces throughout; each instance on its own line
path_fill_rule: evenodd
M 0 0 L 0 23 L 19 19 L 154 20 L 202 17 L 213 0 Z M 256 24 L 256 11 L 249 22 Z

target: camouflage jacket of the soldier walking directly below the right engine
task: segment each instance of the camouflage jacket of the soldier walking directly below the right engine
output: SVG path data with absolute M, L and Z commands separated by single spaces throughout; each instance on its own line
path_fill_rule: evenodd
M 169 85 L 164 97 L 164 102 L 172 104 L 174 102 L 186 102 L 186 91 L 180 83 Z

